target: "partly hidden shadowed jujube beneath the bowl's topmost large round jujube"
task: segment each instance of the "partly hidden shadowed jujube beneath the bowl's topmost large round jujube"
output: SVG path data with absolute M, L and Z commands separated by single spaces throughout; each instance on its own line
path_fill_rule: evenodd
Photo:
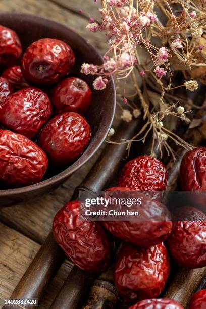
M 8 81 L 17 90 L 30 86 L 29 83 L 24 78 L 20 66 L 9 67 L 2 73 L 2 77 L 7 78 Z

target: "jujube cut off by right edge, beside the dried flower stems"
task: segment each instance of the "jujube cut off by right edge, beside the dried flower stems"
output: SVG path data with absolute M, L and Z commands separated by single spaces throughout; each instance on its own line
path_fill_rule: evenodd
M 185 153 L 180 169 L 181 187 L 184 191 L 206 190 L 206 147 Z

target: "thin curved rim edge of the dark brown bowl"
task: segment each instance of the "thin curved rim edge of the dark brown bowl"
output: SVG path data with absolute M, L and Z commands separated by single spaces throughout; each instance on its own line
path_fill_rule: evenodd
M 34 18 L 35 17 L 36 20 L 52 23 L 53 25 L 57 25 L 58 27 L 64 28 L 65 30 L 69 30 L 70 32 L 73 32 L 73 34 L 76 37 L 81 38 L 81 40 L 85 44 L 89 45 L 90 48 L 92 48 L 95 51 L 95 53 L 99 57 L 99 59 L 102 60 L 102 62 L 104 61 L 102 56 L 100 55 L 99 51 L 96 49 L 96 47 L 94 47 L 93 45 L 88 43 L 81 35 L 79 35 L 77 32 L 75 32 L 71 28 L 65 26 L 64 24 L 61 24 L 61 23 L 59 23 L 57 21 L 54 21 L 53 19 L 48 19 L 48 18 L 40 17 L 40 16 L 37 16 L 37 15 L 34 15 L 34 14 L 18 13 L 18 12 L 10 12 L 10 11 L 8 11 L 8 12 L 5 11 L 5 12 L 1 12 L 0 13 L 0 17 L 1 16 L 7 16 L 7 15 L 18 16 L 19 18 L 25 18 L 25 17 L 26 18 L 29 18 L 29 17 Z M 108 135 L 108 133 L 110 131 L 110 128 L 112 126 L 113 119 L 114 119 L 114 116 L 115 116 L 115 110 L 116 110 L 116 89 L 115 89 L 115 83 L 114 83 L 113 77 L 111 78 L 110 83 L 112 84 L 112 86 L 111 86 L 111 91 L 112 91 L 111 95 L 113 95 L 113 97 L 114 97 L 114 100 L 113 100 L 114 101 L 113 102 L 113 110 L 112 110 L 112 113 L 111 113 L 111 119 L 108 120 L 109 121 L 108 128 L 105 130 L 104 135 L 102 135 L 102 137 L 99 139 L 98 145 L 92 151 L 90 151 L 87 156 L 85 156 L 85 159 L 82 162 L 80 162 L 80 164 L 78 166 L 73 167 L 73 164 L 72 164 L 70 167 L 68 167 L 64 171 L 58 173 L 57 175 L 55 175 L 53 177 L 50 177 L 50 178 L 48 178 L 46 180 L 43 180 L 41 182 L 38 182 L 36 184 L 29 185 L 29 186 L 24 186 L 24 187 L 20 187 L 20 188 L 0 190 L 0 197 L 6 197 L 6 196 L 8 197 L 8 196 L 11 196 L 11 195 L 19 195 L 19 194 L 22 194 L 22 193 L 28 193 L 28 192 L 31 192 L 31 191 L 36 191 L 36 190 L 45 188 L 48 185 L 49 186 L 50 185 L 55 185 L 55 183 L 58 184 L 61 181 L 64 181 L 64 179 L 66 180 L 74 172 L 76 172 L 78 169 L 80 169 L 87 161 L 89 161 L 89 159 L 91 159 L 91 157 L 96 153 L 96 151 L 100 148 L 102 143 L 105 141 L 105 139 L 106 139 L 106 137 L 107 137 L 107 135 Z M 84 153 L 82 154 L 82 156 L 83 155 L 84 155 Z M 78 158 L 77 161 L 74 162 L 74 164 L 76 162 L 78 162 L 78 160 L 80 158 Z M 68 169 L 70 169 L 70 170 L 68 171 Z

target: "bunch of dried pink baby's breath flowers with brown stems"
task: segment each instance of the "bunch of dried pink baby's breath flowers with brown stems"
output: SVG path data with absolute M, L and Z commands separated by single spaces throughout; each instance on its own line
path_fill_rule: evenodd
M 96 90 L 105 89 L 112 76 L 116 79 L 118 94 L 128 106 L 121 115 L 125 121 L 130 122 L 143 111 L 145 125 L 124 143 L 128 142 L 129 149 L 132 141 L 145 142 L 152 133 L 153 138 L 158 139 L 160 153 L 164 147 L 174 158 L 168 140 L 191 149 L 186 141 L 170 131 L 173 121 L 164 118 L 178 117 L 188 123 L 186 107 L 183 104 L 177 107 L 182 99 L 179 100 L 173 90 L 186 87 L 194 91 L 198 88 L 196 80 L 206 84 L 204 1 L 102 0 L 99 3 L 100 19 L 95 22 L 90 18 L 87 28 L 91 32 L 105 32 L 108 39 L 105 63 L 83 64 L 81 72 L 97 75 L 93 82 Z M 175 71 L 182 71 L 185 78 L 190 76 L 191 80 L 178 83 L 181 78 L 176 78 Z M 121 80 L 125 85 L 122 86 Z M 127 84 L 134 87 L 133 91 L 127 91 Z M 137 101 L 132 100 L 135 96 L 139 98 L 140 110 L 139 102 L 137 105 Z M 154 144 L 153 141 L 152 147 Z

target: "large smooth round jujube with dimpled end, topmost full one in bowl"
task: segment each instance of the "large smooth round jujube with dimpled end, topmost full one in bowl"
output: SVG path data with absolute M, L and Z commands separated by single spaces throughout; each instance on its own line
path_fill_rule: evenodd
M 53 38 L 43 38 L 26 49 L 21 68 L 29 82 L 50 85 L 69 74 L 74 62 L 75 56 L 68 44 Z

